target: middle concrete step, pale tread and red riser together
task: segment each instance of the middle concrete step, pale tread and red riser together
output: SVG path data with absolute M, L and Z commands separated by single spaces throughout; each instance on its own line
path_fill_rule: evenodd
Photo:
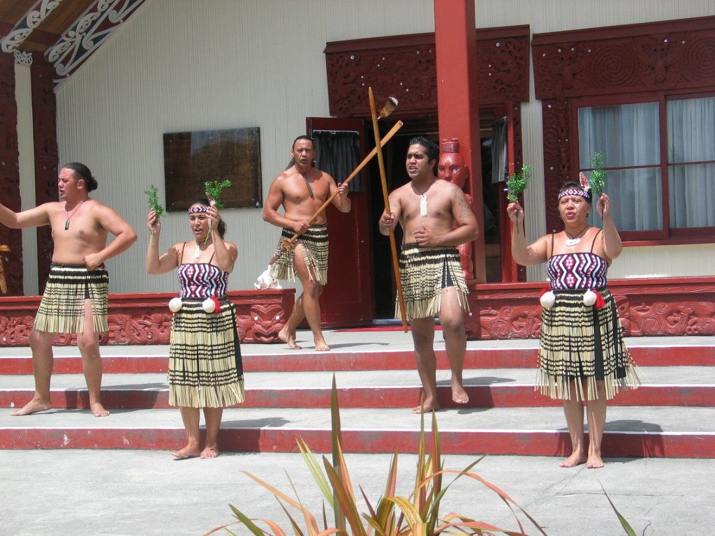
M 644 385 L 622 392 L 614 406 L 715 406 L 715 367 L 641 367 Z M 241 407 L 330 407 L 333 372 L 252 372 L 246 379 Z M 561 402 L 535 392 L 533 369 L 467 369 L 464 382 L 470 396 L 466 407 L 548 407 Z M 415 370 L 336 372 L 342 407 L 405 407 L 417 405 L 420 379 Z M 81 374 L 52 379 L 57 408 L 88 407 Z M 345 387 L 347 386 L 347 387 Z M 442 407 L 451 400 L 450 373 L 438 371 Z M 0 407 L 22 407 L 32 398 L 34 379 L 0 376 Z M 102 400 L 107 409 L 169 407 L 166 374 L 104 374 Z M 411 401 L 411 402 L 410 402 Z

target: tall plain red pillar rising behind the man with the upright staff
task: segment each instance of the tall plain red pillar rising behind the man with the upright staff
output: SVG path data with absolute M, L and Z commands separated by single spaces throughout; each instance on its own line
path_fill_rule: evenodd
M 435 0 L 434 5 L 440 140 L 459 138 L 460 154 L 469 168 L 465 189 L 473 197 L 472 209 L 483 231 L 474 0 Z M 486 282 L 483 233 L 474 242 L 474 274 L 478 282 Z

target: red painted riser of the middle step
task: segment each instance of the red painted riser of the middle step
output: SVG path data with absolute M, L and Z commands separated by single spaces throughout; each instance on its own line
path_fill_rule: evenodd
M 449 387 L 438 387 L 440 406 L 456 407 L 551 407 L 561 402 L 535 392 L 533 387 L 519 385 L 472 385 L 466 387 L 469 402 L 465 406 L 452 401 Z M 419 387 L 347 387 L 338 389 L 340 407 L 388 408 L 413 407 L 419 404 Z M 25 390 L 0 390 L 0 407 L 22 407 L 32 398 Z M 53 390 L 52 404 L 57 408 L 87 409 L 87 389 Z M 104 389 L 102 402 L 108 410 L 169 408 L 167 389 Z M 651 386 L 621 392 L 609 402 L 611 406 L 686 406 L 715 407 L 715 387 Z M 246 402 L 236 407 L 330 407 L 330 389 L 247 389 Z

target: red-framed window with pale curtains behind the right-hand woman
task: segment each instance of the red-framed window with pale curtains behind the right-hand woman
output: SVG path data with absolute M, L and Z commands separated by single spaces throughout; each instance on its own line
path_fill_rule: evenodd
M 621 236 L 715 238 L 715 96 L 584 104 L 576 104 L 579 171 L 589 176 L 593 155 L 603 154 L 604 191 Z

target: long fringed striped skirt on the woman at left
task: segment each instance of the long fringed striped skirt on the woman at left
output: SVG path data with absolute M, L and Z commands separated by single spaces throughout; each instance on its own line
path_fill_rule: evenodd
M 236 311 L 227 297 L 207 313 L 202 299 L 184 299 L 169 342 L 169 405 L 227 407 L 245 399 Z

